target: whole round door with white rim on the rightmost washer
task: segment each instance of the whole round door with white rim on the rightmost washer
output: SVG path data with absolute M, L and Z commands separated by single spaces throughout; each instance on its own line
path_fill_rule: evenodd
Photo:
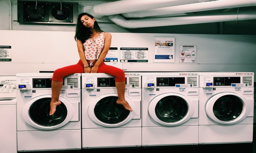
M 222 92 L 211 97 L 206 105 L 208 117 L 221 124 L 241 122 L 250 112 L 246 99 L 233 92 Z

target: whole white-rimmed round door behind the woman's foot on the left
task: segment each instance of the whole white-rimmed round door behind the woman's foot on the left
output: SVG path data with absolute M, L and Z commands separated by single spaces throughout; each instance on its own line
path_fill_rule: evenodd
M 22 109 L 22 117 L 26 123 L 42 130 L 58 129 L 66 125 L 73 117 L 73 106 L 70 102 L 59 97 L 61 104 L 56 107 L 56 112 L 50 116 L 51 95 L 42 95 L 28 101 Z

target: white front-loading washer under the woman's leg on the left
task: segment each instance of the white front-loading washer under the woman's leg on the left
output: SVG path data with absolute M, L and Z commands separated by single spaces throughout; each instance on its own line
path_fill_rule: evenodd
M 81 73 L 64 78 L 49 116 L 53 73 L 17 73 L 17 150 L 78 150 L 81 146 Z

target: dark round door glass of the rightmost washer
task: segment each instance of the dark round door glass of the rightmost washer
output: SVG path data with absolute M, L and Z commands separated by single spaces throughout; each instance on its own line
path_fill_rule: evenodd
M 234 95 L 225 95 L 216 100 L 213 113 L 221 121 L 232 121 L 238 118 L 243 111 L 243 102 Z

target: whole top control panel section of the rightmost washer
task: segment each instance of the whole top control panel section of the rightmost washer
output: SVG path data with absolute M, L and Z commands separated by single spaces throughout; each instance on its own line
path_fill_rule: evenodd
M 199 87 L 253 87 L 254 72 L 199 72 Z

